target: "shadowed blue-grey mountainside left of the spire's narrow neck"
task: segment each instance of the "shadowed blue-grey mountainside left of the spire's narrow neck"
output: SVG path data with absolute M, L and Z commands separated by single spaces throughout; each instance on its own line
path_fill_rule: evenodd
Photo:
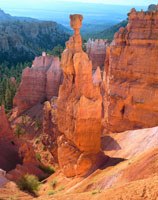
M 64 46 L 68 30 L 56 22 L 12 17 L 0 10 L 0 62 L 31 61 L 42 51 Z

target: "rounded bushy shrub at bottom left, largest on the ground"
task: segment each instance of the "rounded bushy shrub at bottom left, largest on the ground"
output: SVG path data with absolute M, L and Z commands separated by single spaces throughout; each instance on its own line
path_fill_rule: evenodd
M 37 195 L 40 182 L 36 176 L 31 174 L 26 174 L 20 178 L 17 185 L 20 188 L 20 190 L 24 190 L 34 195 Z

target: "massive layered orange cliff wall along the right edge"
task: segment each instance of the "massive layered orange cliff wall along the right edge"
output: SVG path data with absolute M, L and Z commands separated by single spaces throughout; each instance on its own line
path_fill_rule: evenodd
M 158 125 L 158 11 L 131 10 L 107 49 L 104 86 L 106 130 Z

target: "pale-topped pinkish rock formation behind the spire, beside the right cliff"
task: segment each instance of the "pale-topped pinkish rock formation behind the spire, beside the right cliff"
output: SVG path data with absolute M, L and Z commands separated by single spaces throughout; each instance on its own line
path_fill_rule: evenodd
M 92 61 L 93 69 L 96 70 L 99 66 L 101 69 L 104 68 L 106 48 L 109 45 L 108 40 L 91 40 L 89 39 L 86 43 L 86 51 L 89 59 Z

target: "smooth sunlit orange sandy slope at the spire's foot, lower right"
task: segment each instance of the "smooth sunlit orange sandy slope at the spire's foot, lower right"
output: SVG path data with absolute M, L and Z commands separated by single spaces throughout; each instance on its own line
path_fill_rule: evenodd
M 84 179 L 57 172 L 41 187 L 38 199 L 158 200 L 158 127 L 107 135 L 102 148 L 111 157 L 102 169 Z

